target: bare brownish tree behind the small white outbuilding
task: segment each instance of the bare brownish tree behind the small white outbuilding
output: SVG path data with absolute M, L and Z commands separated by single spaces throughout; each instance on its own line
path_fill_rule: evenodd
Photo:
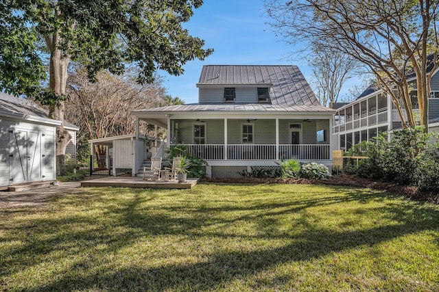
M 111 75 L 98 72 L 91 83 L 86 70 L 77 68 L 67 82 L 66 118 L 80 125 L 80 137 L 99 139 L 128 135 L 136 131 L 135 109 L 154 107 L 165 100 L 165 88 L 160 81 L 140 85 L 132 72 Z M 146 125 L 143 125 L 146 131 Z M 106 155 L 106 148 L 95 146 L 92 152 Z

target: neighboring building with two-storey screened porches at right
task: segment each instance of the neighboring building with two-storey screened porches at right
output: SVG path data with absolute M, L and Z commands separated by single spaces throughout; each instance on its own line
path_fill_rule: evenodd
M 439 75 L 431 77 L 429 96 L 429 129 L 435 131 L 439 118 Z M 416 79 L 407 79 L 412 84 L 412 108 L 419 113 L 416 97 Z M 404 111 L 405 114 L 405 111 Z M 401 129 L 401 117 L 392 103 L 392 98 L 383 90 L 370 86 L 360 96 L 337 108 L 333 120 L 333 148 L 349 150 L 353 145 L 368 141 L 378 133 Z

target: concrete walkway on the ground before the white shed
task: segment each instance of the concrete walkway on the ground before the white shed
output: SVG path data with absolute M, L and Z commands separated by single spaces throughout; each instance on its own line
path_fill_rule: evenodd
M 40 206 L 54 194 L 79 194 L 81 182 L 58 183 L 59 185 L 27 191 L 0 191 L 0 208 Z

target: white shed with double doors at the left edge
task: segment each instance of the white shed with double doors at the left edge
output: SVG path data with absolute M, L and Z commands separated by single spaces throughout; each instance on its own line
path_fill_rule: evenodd
M 17 183 L 56 179 L 56 126 L 47 111 L 25 98 L 0 92 L 0 189 Z M 69 154 L 75 157 L 78 127 L 64 122 L 71 133 Z

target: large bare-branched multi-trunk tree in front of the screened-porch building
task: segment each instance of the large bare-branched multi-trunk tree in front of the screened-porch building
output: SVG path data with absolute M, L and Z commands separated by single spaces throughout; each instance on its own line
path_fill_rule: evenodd
M 287 42 L 309 45 L 323 39 L 327 49 L 346 53 L 368 68 L 392 97 L 404 128 L 415 124 L 412 84 L 407 81 L 412 76 L 416 79 L 420 123 L 428 123 L 431 75 L 427 75 L 427 65 L 430 72 L 438 68 L 437 5 L 433 0 L 265 2 L 274 29 Z

